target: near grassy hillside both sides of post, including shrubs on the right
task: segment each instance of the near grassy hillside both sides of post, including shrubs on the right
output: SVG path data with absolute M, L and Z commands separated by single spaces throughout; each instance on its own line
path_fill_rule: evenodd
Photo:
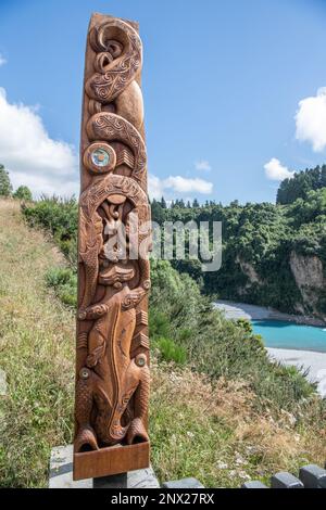
M 13 201 L 0 201 L 0 368 L 9 383 L 0 397 L 0 483 L 46 486 L 51 446 L 72 441 L 74 379 L 73 307 L 48 284 L 57 278 L 58 290 L 65 285 L 70 295 L 74 279 L 52 241 L 24 224 Z M 267 362 L 246 324 L 218 314 L 209 317 L 211 324 L 200 322 L 208 309 L 193 285 L 171 267 L 153 267 L 150 430 L 158 475 L 236 487 L 304 462 L 323 464 L 325 405 L 298 372 Z M 181 301 L 189 289 L 192 302 L 189 294 Z M 187 311 L 192 322 L 188 315 L 185 330 Z M 174 352 L 177 347 L 186 359 Z

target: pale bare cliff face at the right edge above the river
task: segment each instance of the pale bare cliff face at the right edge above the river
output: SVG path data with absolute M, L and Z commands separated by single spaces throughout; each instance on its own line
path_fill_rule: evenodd
M 314 308 L 318 299 L 317 291 L 326 285 L 322 260 L 315 255 L 303 256 L 292 251 L 290 267 L 303 303 Z M 298 311 L 302 311 L 302 306 L 298 305 Z

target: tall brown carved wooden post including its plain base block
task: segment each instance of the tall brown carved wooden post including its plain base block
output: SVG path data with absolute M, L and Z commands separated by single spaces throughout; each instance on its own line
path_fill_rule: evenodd
M 80 145 L 75 480 L 149 466 L 150 212 L 141 62 L 138 24 L 92 15 Z

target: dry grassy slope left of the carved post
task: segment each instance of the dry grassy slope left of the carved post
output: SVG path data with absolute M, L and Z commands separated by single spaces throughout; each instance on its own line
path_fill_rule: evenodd
M 11 200 L 0 201 L 0 484 L 45 486 L 51 446 L 72 434 L 74 318 L 45 286 L 63 256 Z

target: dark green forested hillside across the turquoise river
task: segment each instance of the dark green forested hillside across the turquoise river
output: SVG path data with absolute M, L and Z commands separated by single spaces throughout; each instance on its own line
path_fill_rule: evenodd
M 286 179 L 271 203 L 227 206 L 177 201 L 152 204 L 163 221 L 222 221 L 223 263 L 202 273 L 197 260 L 174 266 L 202 283 L 203 292 L 222 298 L 272 306 L 285 313 L 314 316 L 326 322 L 326 166 Z M 281 203 L 284 203 L 280 201 Z

